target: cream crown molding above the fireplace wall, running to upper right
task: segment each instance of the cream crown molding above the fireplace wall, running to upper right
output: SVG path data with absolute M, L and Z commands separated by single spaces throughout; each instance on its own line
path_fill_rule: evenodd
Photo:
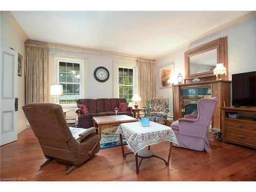
M 250 13 L 242 16 L 242 17 L 239 17 L 237 19 L 234 19 L 231 22 L 229 22 L 227 24 L 224 24 L 224 25 L 222 25 L 222 26 L 220 26 L 220 27 L 218 27 L 218 28 L 216 28 L 214 30 L 211 30 L 209 32 L 206 32 L 206 33 L 204 33 L 204 34 L 194 38 L 194 39 L 191 39 L 191 40 L 185 42 L 184 44 L 181 44 L 181 45 L 179 45 L 179 46 L 177 46 L 177 47 L 175 47 L 173 49 L 170 49 L 169 51 L 163 52 L 163 53 L 155 56 L 154 59 L 161 59 L 161 58 L 163 58 L 163 57 L 165 57 L 165 56 L 167 56 L 169 54 L 172 54 L 174 52 L 177 52 L 177 51 L 180 51 L 182 49 L 185 49 L 185 48 L 187 48 L 187 47 L 189 47 L 191 45 L 196 44 L 197 42 L 201 42 L 201 41 L 203 41 L 203 40 L 205 40 L 205 39 L 207 39 L 209 37 L 217 35 L 217 34 L 223 32 L 223 31 L 226 31 L 226 30 L 228 30 L 230 28 L 233 28 L 235 26 L 238 26 L 240 24 L 243 24 L 243 23 L 248 22 L 249 20 L 252 20 L 252 19 L 255 19 L 255 18 L 256 18 L 256 11 L 252 11 L 252 12 L 250 12 Z

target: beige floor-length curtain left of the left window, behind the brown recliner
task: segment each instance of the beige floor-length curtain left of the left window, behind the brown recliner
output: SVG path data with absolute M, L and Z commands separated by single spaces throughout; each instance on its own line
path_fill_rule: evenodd
M 26 104 L 49 102 L 48 46 L 25 43 Z

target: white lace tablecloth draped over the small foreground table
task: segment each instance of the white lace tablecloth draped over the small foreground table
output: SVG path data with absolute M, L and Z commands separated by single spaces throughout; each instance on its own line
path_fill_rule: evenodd
M 140 122 L 122 123 L 116 134 L 122 134 L 127 139 L 134 154 L 148 145 L 161 141 L 170 141 L 179 144 L 172 128 L 156 122 L 150 122 L 151 126 L 141 126 Z

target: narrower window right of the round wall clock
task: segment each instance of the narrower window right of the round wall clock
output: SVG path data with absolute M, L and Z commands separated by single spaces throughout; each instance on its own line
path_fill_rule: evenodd
M 133 68 L 118 68 L 118 89 L 119 98 L 125 98 L 128 102 L 132 102 L 134 92 Z

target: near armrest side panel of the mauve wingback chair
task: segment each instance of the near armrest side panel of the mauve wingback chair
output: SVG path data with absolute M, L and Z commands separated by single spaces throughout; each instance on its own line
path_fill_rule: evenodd
M 193 137 L 204 138 L 206 132 L 203 126 L 197 119 L 178 119 L 179 134 Z

